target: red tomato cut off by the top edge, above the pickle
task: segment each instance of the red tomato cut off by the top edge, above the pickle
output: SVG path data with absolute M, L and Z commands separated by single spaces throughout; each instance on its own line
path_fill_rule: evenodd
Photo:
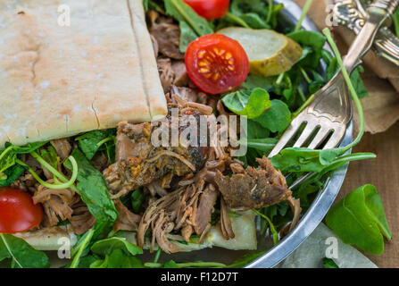
M 224 17 L 229 10 L 229 0 L 184 0 L 195 12 L 207 20 Z

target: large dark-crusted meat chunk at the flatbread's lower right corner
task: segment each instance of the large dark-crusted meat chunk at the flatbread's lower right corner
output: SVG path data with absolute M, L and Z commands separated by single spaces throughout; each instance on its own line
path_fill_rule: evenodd
M 181 99 L 180 99 L 181 100 Z M 190 119 L 196 118 L 199 124 L 199 116 L 212 112 L 207 106 L 182 101 L 179 105 L 179 134 L 190 126 Z M 187 110 L 190 113 L 187 113 Z M 121 122 L 118 125 L 116 138 L 116 160 L 104 170 L 104 178 L 108 188 L 112 192 L 112 199 L 121 198 L 129 191 L 146 186 L 153 181 L 165 176 L 181 177 L 195 173 L 204 164 L 206 148 L 203 147 L 155 147 L 152 143 L 152 135 L 160 134 L 158 129 L 165 130 L 178 128 L 168 114 L 166 122 L 158 122 L 156 126 L 145 122 L 130 124 Z M 199 137 L 198 137 L 199 138 Z M 169 144 L 171 146 L 172 144 Z

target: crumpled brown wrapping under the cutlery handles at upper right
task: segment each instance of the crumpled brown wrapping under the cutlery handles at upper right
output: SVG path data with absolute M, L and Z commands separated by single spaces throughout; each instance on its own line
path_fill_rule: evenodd
M 294 0 L 301 7 L 306 0 Z M 328 4 L 334 0 L 314 0 L 308 16 L 318 26 L 326 28 Z M 355 37 L 350 29 L 333 27 L 333 35 L 343 55 Z M 386 131 L 399 120 L 399 67 L 370 51 L 364 58 L 365 72 L 362 79 L 370 97 L 362 98 L 366 131 L 378 133 Z M 356 119 L 356 116 L 354 116 Z

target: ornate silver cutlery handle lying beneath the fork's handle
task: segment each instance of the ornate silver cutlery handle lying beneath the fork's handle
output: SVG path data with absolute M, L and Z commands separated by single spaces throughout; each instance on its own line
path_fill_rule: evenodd
M 335 0 L 334 19 L 341 25 L 352 29 L 358 35 L 362 30 L 364 22 L 368 17 L 366 5 L 372 4 L 370 0 Z M 395 13 L 395 2 L 380 1 L 377 7 L 387 9 L 389 14 Z M 392 63 L 399 65 L 399 38 L 387 27 L 378 30 L 378 35 L 374 41 L 374 47 L 378 55 L 381 55 Z

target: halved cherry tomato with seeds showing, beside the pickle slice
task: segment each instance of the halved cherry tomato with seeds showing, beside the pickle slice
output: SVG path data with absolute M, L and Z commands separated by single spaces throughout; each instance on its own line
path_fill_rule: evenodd
M 191 42 L 185 63 L 189 78 L 212 95 L 237 88 L 249 72 L 244 48 L 235 39 L 221 34 L 206 35 Z

